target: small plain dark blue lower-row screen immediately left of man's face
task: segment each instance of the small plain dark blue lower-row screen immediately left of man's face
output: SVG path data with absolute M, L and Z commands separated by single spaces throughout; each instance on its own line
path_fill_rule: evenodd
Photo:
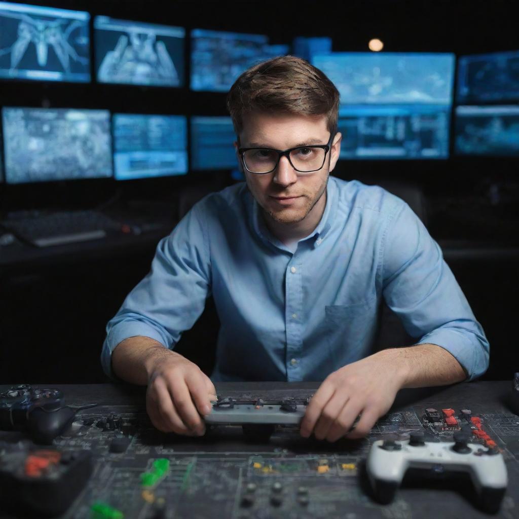
M 191 167 L 194 170 L 237 167 L 236 133 L 230 117 L 191 118 Z

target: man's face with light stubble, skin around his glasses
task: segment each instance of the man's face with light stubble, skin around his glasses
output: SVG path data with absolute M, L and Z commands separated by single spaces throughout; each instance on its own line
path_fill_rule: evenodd
M 272 115 L 253 112 L 243 118 L 239 147 L 288 149 L 326 144 L 329 139 L 330 131 L 326 128 L 324 115 Z M 238 156 L 238 160 L 252 195 L 267 215 L 281 224 L 295 224 L 302 222 L 321 200 L 339 151 L 340 133 L 337 133 L 322 169 L 306 175 L 298 174 L 287 157 L 281 157 L 278 167 L 264 175 L 248 172 L 243 168 L 241 157 Z M 321 200 L 322 210 L 324 203 L 325 198 Z

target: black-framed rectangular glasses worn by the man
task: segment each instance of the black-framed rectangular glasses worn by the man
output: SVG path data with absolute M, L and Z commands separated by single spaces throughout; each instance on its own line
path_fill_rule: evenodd
M 238 153 L 245 169 L 256 175 L 265 175 L 274 171 L 283 156 L 289 159 L 290 165 L 298 173 L 313 173 L 324 166 L 333 136 L 333 133 L 330 134 L 327 144 L 311 144 L 289 149 L 238 148 Z

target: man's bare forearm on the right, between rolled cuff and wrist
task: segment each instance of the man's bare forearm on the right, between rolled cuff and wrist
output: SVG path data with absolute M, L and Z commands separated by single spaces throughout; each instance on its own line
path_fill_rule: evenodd
M 444 386 L 467 378 L 455 357 L 435 344 L 389 348 L 375 356 L 401 377 L 402 388 Z

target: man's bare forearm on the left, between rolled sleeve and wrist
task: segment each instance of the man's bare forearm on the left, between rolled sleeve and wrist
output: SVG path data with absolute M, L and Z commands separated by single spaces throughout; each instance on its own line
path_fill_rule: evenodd
M 132 384 L 145 386 L 152 364 L 160 359 L 179 356 L 149 337 L 129 337 L 122 340 L 112 352 L 112 370 Z

